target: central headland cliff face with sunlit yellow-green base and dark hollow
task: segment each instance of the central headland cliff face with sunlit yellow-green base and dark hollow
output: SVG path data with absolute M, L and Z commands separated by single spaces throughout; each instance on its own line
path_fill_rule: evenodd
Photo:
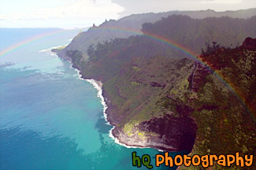
M 175 95 L 190 92 L 187 78 L 193 67 L 187 59 L 155 56 L 145 62 L 141 57 L 106 81 L 103 90 L 110 106 L 108 121 L 115 125 L 113 136 L 129 146 L 191 151 L 196 132 L 189 116 L 192 109 Z

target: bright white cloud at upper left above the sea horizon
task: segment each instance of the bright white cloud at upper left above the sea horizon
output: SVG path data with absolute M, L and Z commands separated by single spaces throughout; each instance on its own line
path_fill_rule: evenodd
M 79 20 L 117 19 L 124 8 L 111 0 L 79 0 L 54 8 L 33 9 L 28 13 L 0 15 L 2 20 Z

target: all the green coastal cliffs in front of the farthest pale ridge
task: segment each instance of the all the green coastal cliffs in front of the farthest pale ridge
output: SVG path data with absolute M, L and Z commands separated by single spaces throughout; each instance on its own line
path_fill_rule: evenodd
M 87 60 L 79 50 L 66 52 L 83 78 L 103 82 L 107 119 L 121 143 L 199 155 L 254 154 L 256 53 L 247 37 L 256 37 L 255 21 L 174 15 L 143 24 L 144 35 L 90 45 Z M 205 47 L 208 41 L 213 45 Z M 190 58 L 185 47 L 203 49 Z

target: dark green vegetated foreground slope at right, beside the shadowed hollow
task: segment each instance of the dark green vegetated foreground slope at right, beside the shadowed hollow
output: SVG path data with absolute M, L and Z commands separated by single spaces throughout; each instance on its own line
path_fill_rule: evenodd
M 221 46 L 202 52 L 202 60 L 215 68 L 237 94 L 230 92 L 216 76 L 208 75 L 198 89 L 197 108 L 191 116 L 198 125 L 195 146 L 191 154 L 254 154 L 255 150 L 255 63 L 256 52 Z M 221 60 L 222 59 L 222 60 Z M 241 64 L 243 63 L 243 64 Z M 248 109 L 244 106 L 245 103 Z M 202 106 L 215 105 L 213 110 Z M 201 109 L 200 109 L 201 107 Z M 203 120 L 203 121 L 202 121 Z M 232 166 L 227 169 L 254 169 Z M 181 169 L 187 169 L 185 167 Z M 202 169 L 202 167 L 191 168 Z M 225 169 L 217 165 L 214 169 Z

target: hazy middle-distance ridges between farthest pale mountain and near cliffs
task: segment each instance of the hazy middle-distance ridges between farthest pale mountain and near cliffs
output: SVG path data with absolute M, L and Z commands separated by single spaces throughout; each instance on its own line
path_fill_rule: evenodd
M 184 50 L 200 53 L 206 42 L 221 42 L 234 45 L 244 38 L 256 37 L 256 16 L 250 19 L 228 17 L 191 19 L 189 16 L 169 16 L 154 24 L 143 24 L 143 35 L 115 38 L 109 42 L 90 45 L 88 58 L 78 50 L 67 50 L 73 67 L 80 69 L 86 78 L 107 81 L 121 71 L 125 63 L 139 56 L 149 59 L 161 55 L 173 59 L 189 57 Z M 150 35 L 151 37 L 149 38 Z M 162 43 L 162 39 L 167 43 Z M 181 49 L 169 45 L 169 40 L 178 43 Z

